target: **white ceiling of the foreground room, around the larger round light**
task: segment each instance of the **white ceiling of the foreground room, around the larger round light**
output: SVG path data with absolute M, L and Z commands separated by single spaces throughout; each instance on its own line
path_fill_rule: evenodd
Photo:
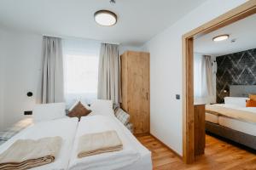
M 140 46 L 206 0 L 1 0 L 0 25 L 63 37 Z M 98 26 L 94 13 L 110 9 L 113 27 Z

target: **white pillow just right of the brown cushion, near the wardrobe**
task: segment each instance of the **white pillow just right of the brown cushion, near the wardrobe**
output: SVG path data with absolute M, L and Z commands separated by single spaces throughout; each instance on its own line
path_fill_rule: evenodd
M 96 99 L 90 105 L 93 115 L 114 116 L 113 101 L 105 99 Z

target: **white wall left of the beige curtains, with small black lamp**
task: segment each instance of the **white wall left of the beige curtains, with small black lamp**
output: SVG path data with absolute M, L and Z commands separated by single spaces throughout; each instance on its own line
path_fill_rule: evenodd
M 4 45 L 4 61 L 1 60 L 1 90 L 3 100 L 1 128 L 26 117 L 24 111 L 32 110 L 38 98 L 38 84 L 41 77 L 42 36 L 17 31 L 0 31 L 0 45 Z M 2 53 L 2 51 L 1 51 Z M 3 82 L 2 82 L 3 81 Z M 26 93 L 32 91 L 32 98 Z M 1 101 L 1 100 L 0 100 Z

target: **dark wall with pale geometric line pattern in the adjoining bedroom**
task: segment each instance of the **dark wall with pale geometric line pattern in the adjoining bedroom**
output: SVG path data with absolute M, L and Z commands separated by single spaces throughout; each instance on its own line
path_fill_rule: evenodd
M 218 56 L 216 61 L 218 103 L 223 103 L 224 97 L 230 95 L 230 85 L 256 85 L 256 48 Z

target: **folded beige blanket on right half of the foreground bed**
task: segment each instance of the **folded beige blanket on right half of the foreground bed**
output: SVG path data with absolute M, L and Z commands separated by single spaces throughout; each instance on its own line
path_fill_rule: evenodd
M 79 139 L 78 157 L 92 156 L 123 150 L 123 144 L 115 131 L 85 134 Z

